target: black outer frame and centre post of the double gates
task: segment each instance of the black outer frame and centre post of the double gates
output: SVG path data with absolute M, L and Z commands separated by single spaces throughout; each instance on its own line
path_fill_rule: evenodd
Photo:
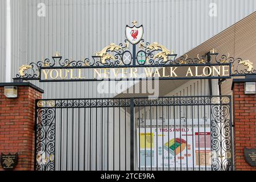
M 163 98 L 166 98 L 168 100 L 170 99 L 174 99 L 175 98 L 179 98 L 179 104 L 175 104 L 174 105 L 171 105 L 170 103 L 169 104 L 158 104 L 158 100 L 159 99 L 163 99 Z M 207 100 L 207 102 L 210 101 L 210 103 L 194 103 L 194 102 L 190 102 L 190 104 L 180 104 L 180 102 L 182 101 L 181 99 L 183 98 L 204 98 L 203 100 L 206 100 L 206 98 L 209 98 L 209 100 Z M 215 100 L 213 100 L 213 98 L 215 98 Z M 218 100 L 219 98 L 219 100 Z M 141 104 L 141 102 L 136 102 L 136 100 L 140 100 L 140 99 L 144 99 L 145 100 L 145 104 Z M 217 99 L 217 100 L 216 100 Z M 228 102 L 226 101 L 226 99 L 228 100 Z M 46 109 L 46 108 L 51 108 L 51 109 L 55 109 L 57 108 L 55 106 L 55 103 L 56 101 L 75 101 L 75 100 L 119 100 L 119 102 L 121 100 L 128 100 L 130 101 L 129 102 L 129 105 L 126 105 L 126 102 L 125 102 L 125 107 L 130 107 L 130 171 L 134 171 L 134 149 L 135 149 L 135 146 L 134 146 L 134 139 L 137 137 L 135 136 L 135 129 L 134 129 L 134 117 L 135 117 L 135 114 L 134 114 L 134 110 L 135 110 L 135 107 L 139 107 L 139 106 L 193 106 L 194 104 L 197 104 L 198 106 L 202 106 L 202 105 L 220 105 L 220 107 L 222 107 L 222 105 L 227 105 L 229 106 L 229 134 L 230 134 L 230 169 L 233 170 L 234 169 L 234 152 L 233 152 L 233 112 L 232 112 L 232 108 L 231 108 L 231 96 L 163 96 L 163 97 L 158 97 L 158 98 L 155 98 L 155 99 L 150 99 L 150 98 L 147 98 L 147 97 L 131 97 L 131 98 L 70 98 L 70 99 L 65 99 L 65 98 L 62 98 L 62 99 L 40 99 L 40 100 L 35 100 L 35 148 L 34 148 L 34 170 L 37 169 L 37 129 L 38 129 L 38 110 L 39 109 Z M 45 102 L 43 102 L 45 101 Z M 49 104 L 49 107 L 47 106 L 47 101 L 50 101 L 48 104 Z M 150 104 L 149 102 L 147 102 L 146 104 L 146 101 L 150 101 Z M 157 104 L 155 105 L 152 105 L 152 101 L 156 101 Z M 193 101 L 193 100 L 192 100 Z M 217 103 L 219 101 L 219 103 Z M 43 105 L 45 105 L 45 107 L 43 107 L 42 105 L 38 105 L 39 102 L 41 102 L 41 104 L 43 103 Z M 216 103 L 214 103 L 216 102 Z M 224 103 L 222 103 L 224 102 Z M 226 102 L 226 103 L 225 103 Z M 53 103 L 54 103 L 54 106 L 53 106 Z M 97 106 L 88 106 L 88 107 L 92 107 L 92 108 L 98 108 Z M 88 108 L 86 106 L 78 106 L 78 107 L 73 107 L 73 108 Z M 100 107 L 123 107 L 123 106 L 100 106 Z M 59 108 L 63 108 L 63 107 L 59 107 Z M 72 108 L 72 107 L 64 107 L 64 108 Z M 55 117 L 55 115 L 54 115 Z M 211 125 L 211 121 L 210 121 L 210 125 Z M 56 125 L 55 125 L 55 129 L 54 129 L 54 132 L 56 130 Z M 211 129 L 210 129 L 211 130 Z M 219 131 L 221 132 L 221 131 Z M 55 136 L 56 137 L 56 136 Z M 211 131 L 211 137 L 212 137 L 212 131 Z M 54 138 L 54 141 L 55 141 L 55 138 Z M 212 142 L 212 140 L 211 140 Z M 54 142 L 55 143 L 55 142 Z M 222 148 L 222 144 L 219 148 Z M 212 150 L 212 147 L 211 147 L 211 150 Z M 222 158 L 222 156 L 221 156 Z M 222 167 L 222 163 L 221 164 L 221 169 L 223 170 L 223 167 Z M 211 164 L 212 165 L 212 164 Z M 228 168 L 229 166 L 227 166 L 227 170 L 229 170 Z M 54 169 L 55 169 L 55 150 L 54 150 Z

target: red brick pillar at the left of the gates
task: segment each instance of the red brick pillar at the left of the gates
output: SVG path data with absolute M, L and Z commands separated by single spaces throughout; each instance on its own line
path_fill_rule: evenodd
M 4 86 L 17 86 L 18 97 L 6 98 Z M 14 170 L 34 170 L 35 100 L 42 93 L 29 82 L 0 83 L 0 154 L 18 152 Z

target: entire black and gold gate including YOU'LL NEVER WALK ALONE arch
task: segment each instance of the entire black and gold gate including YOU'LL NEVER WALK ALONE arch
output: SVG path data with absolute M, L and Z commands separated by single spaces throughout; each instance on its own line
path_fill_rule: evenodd
M 165 46 L 146 42 L 143 26 L 136 24 L 126 26 L 124 43 L 110 43 L 91 59 L 65 59 L 55 52 L 21 65 L 14 79 L 218 79 L 221 84 L 234 76 L 256 75 L 250 60 L 221 55 L 214 48 L 177 58 Z M 36 105 L 38 170 L 233 169 L 229 96 L 65 98 L 38 100 Z

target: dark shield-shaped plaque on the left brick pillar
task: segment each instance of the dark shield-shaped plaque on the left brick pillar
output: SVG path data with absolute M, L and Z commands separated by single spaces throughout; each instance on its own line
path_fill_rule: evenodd
M 13 170 L 18 164 L 18 153 L 3 154 L 1 153 L 1 166 L 5 170 Z

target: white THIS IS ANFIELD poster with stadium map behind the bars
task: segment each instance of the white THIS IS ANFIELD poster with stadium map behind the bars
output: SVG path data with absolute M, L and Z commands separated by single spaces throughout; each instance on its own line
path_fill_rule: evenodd
M 158 127 L 138 131 L 138 167 L 211 167 L 210 127 Z M 145 138 L 146 135 L 146 138 Z M 194 147 L 193 147 L 194 146 Z M 145 148 L 146 147 L 146 148 Z M 194 149 L 194 150 L 193 150 Z M 146 154 L 146 155 L 145 155 Z

